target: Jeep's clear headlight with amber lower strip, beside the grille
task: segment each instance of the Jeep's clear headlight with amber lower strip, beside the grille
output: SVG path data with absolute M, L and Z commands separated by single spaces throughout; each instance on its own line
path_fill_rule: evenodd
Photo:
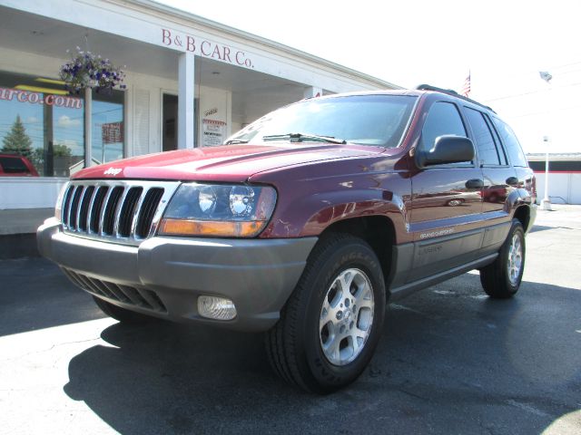
M 254 237 L 268 224 L 275 204 L 276 190 L 270 187 L 182 184 L 165 210 L 159 234 Z

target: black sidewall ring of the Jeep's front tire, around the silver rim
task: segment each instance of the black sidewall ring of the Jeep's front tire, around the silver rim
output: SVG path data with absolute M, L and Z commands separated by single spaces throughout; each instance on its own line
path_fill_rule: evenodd
M 320 310 L 333 280 L 349 268 L 361 270 L 369 278 L 373 290 L 373 324 L 367 342 L 352 362 L 343 366 L 331 364 L 320 346 Z M 310 283 L 310 297 L 305 307 L 304 357 L 309 365 L 314 382 L 327 391 L 333 391 L 353 382 L 368 365 L 382 332 L 385 315 L 385 284 L 377 256 L 362 241 L 350 240 L 317 265 L 317 273 Z

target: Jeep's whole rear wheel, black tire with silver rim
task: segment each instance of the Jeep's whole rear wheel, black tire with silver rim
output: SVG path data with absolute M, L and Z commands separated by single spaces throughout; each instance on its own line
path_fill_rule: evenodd
M 525 231 L 513 219 L 507 239 L 494 263 L 480 269 L 480 283 L 490 297 L 507 299 L 517 294 L 525 270 Z

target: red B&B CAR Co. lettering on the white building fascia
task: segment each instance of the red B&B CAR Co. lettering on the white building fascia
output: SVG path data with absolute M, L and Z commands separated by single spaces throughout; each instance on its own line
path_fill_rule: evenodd
M 216 61 L 254 68 L 251 58 L 241 50 L 222 43 L 197 38 L 190 34 L 179 34 L 174 30 L 162 29 L 162 43 L 168 47 L 181 48 L 183 51 L 196 53 Z

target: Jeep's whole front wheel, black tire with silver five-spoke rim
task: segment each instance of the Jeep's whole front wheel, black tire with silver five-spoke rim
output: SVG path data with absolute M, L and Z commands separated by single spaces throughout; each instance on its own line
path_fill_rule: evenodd
M 385 304 L 381 266 L 365 241 L 350 235 L 320 240 L 281 319 L 267 333 L 274 371 L 318 393 L 355 381 L 379 342 Z

